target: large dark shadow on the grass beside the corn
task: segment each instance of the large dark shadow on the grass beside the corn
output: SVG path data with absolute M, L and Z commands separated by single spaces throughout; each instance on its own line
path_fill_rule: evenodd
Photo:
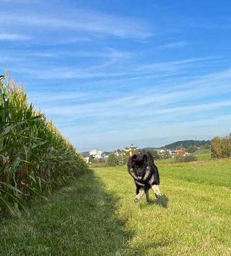
M 3 255 L 120 255 L 133 233 L 116 216 L 118 198 L 90 171 L 33 203 L 30 216 L 0 225 Z

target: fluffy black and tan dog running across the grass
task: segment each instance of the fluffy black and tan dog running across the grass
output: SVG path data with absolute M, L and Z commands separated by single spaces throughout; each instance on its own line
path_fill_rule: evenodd
M 159 172 L 154 164 L 154 158 L 150 152 L 144 154 L 134 154 L 128 159 L 128 172 L 133 177 L 136 184 L 135 202 L 146 194 L 147 202 L 150 202 L 148 191 L 150 188 L 154 191 L 156 198 L 161 196 L 159 188 Z

